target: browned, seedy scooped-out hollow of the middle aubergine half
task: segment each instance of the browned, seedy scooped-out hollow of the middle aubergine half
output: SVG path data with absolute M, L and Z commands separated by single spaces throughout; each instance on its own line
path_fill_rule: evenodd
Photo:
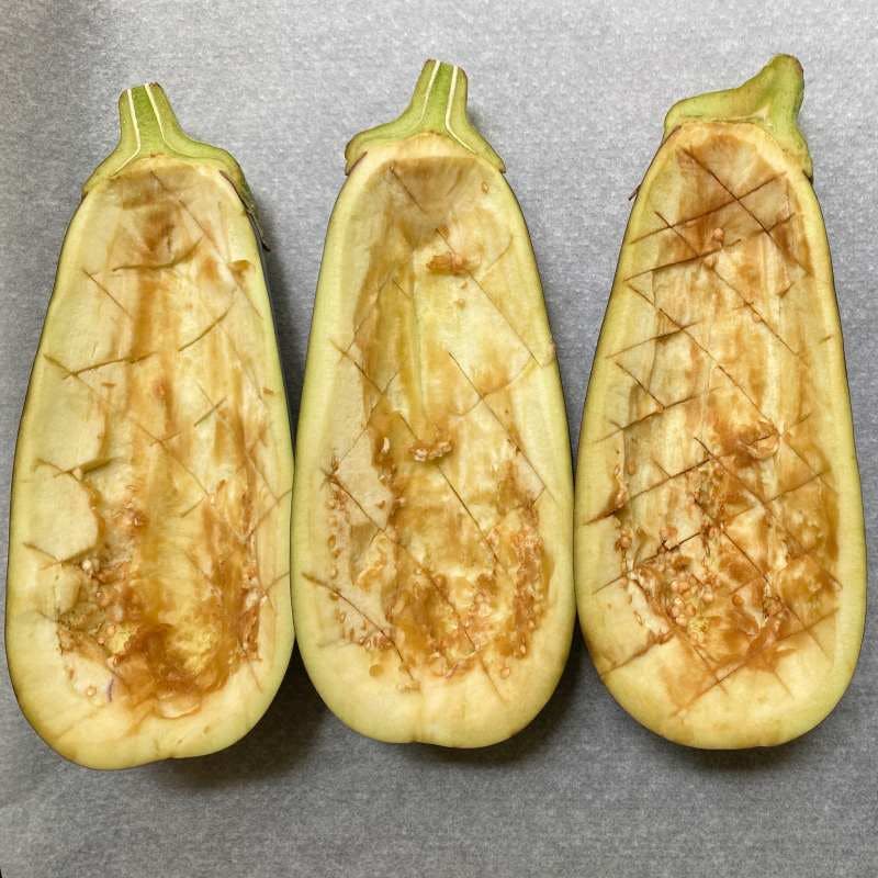
M 401 148 L 368 192 L 380 222 L 362 229 L 368 269 L 353 334 L 337 347 L 356 363 L 369 417 L 351 450 L 326 461 L 333 560 L 309 577 L 336 603 L 340 639 L 401 690 L 474 671 L 509 677 L 548 609 L 553 569 L 543 486 L 506 417 L 521 363 L 536 364 L 480 285 L 511 233 L 479 162 L 414 153 Z

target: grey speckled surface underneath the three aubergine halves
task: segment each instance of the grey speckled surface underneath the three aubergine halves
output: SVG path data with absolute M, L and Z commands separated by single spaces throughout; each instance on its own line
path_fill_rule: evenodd
M 124 87 L 160 81 L 182 124 L 244 166 L 272 244 L 268 270 L 295 416 L 344 145 L 402 110 L 426 57 L 462 65 L 472 114 L 506 159 L 530 225 L 575 438 L 628 195 L 665 110 L 679 97 L 736 85 L 785 50 L 806 69 L 802 125 L 833 248 L 871 542 L 871 3 L 3 5 L 3 538 L 15 428 L 57 255 L 79 185 L 115 142 Z M 267 716 L 230 750 L 100 774 L 40 742 L 3 665 L 0 868 L 4 878 L 875 876 L 874 622 L 832 717 L 770 752 L 700 753 L 655 738 L 615 706 L 577 635 L 542 714 L 482 752 L 358 736 L 326 710 L 294 657 Z

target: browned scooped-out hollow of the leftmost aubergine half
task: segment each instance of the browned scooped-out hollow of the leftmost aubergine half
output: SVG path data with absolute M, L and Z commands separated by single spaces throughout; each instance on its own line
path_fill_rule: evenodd
M 102 367 L 76 379 L 108 410 L 106 443 L 122 457 L 105 493 L 82 475 L 101 537 L 75 562 L 79 597 L 59 642 L 113 672 L 112 698 L 166 717 L 196 710 L 257 656 L 266 598 L 256 531 L 271 497 L 254 459 L 268 442 L 266 381 L 252 385 L 258 360 L 245 362 L 223 326 L 247 266 L 225 259 L 218 200 L 187 204 L 212 185 L 187 166 L 140 164 L 100 195 L 120 209 L 100 282 L 125 311 L 126 352 L 112 381 L 99 381 Z

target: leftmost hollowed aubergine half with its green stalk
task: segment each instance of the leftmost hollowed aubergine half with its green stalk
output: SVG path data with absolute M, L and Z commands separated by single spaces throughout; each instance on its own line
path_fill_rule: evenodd
M 21 708 L 95 768 L 233 743 L 293 642 L 292 448 L 250 194 L 158 86 L 119 106 L 31 375 L 7 583 Z

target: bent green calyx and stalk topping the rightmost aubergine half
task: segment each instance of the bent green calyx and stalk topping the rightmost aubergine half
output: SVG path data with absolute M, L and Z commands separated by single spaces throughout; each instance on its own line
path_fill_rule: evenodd
M 665 139 L 691 120 L 752 122 L 767 131 L 800 166 L 813 175 L 808 144 L 799 131 L 798 115 L 804 93 L 802 66 L 791 55 L 776 55 L 742 86 L 686 98 L 665 116 Z

